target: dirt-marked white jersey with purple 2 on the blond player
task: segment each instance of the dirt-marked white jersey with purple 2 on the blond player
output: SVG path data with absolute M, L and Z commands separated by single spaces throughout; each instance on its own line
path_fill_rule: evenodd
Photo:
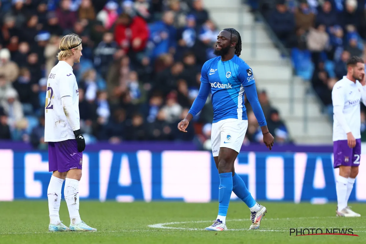
M 75 139 L 71 125 L 67 121 L 61 97 L 72 97 L 73 109 L 79 116 L 79 88 L 72 67 L 59 61 L 52 68 L 47 80 L 45 104 L 45 142 L 60 142 Z

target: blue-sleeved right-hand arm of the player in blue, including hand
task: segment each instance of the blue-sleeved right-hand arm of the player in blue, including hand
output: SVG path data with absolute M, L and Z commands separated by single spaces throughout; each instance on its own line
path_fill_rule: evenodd
M 258 124 L 262 129 L 263 141 L 266 144 L 266 146 L 269 147 L 269 150 L 271 150 L 274 139 L 273 136 L 269 133 L 266 118 L 264 117 L 262 106 L 259 103 L 253 70 L 249 67 L 249 65 L 247 65 L 246 63 L 242 63 L 239 66 L 238 78 L 242 83 L 242 85 L 244 86 L 247 99 L 253 109 L 255 118 L 257 118 Z

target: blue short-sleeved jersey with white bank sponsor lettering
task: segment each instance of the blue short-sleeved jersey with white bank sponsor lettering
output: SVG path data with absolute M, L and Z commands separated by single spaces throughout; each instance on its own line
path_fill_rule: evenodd
M 213 123 L 224 119 L 247 120 L 245 87 L 255 83 L 253 71 L 238 56 L 221 61 L 215 57 L 202 66 L 201 82 L 211 86 Z

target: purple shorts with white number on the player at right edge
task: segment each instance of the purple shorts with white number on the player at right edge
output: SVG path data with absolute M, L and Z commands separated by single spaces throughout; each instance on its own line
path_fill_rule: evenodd
M 359 166 L 361 155 L 361 139 L 356 139 L 354 148 L 348 147 L 347 140 L 337 140 L 333 142 L 334 162 L 333 168 L 339 166 Z

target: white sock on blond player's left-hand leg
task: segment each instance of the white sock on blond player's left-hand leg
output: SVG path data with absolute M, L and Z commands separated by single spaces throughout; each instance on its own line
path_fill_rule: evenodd
M 61 188 L 64 183 L 63 179 L 51 176 L 47 189 L 49 222 L 53 225 L 60 223 L 60 202 L 61 202 Z

